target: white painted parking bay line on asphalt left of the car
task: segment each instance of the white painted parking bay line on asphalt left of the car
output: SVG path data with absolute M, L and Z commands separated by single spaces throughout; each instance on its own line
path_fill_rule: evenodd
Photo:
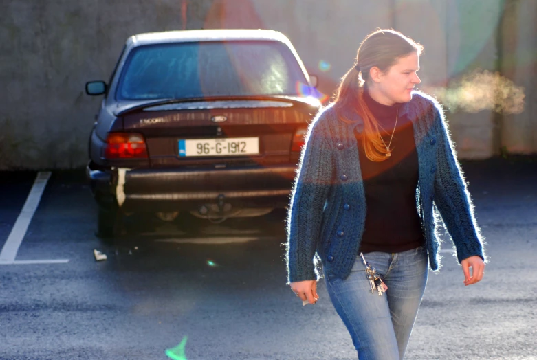
M 26 198 L 24 203 L 23 210 L 21 214 L 15 221 L 15 225 L 11 229 L 8 240 L 3 245 L 2 251 L 0 252 L 0 265 L 14 265 L 14 264 L 52 264 L 52 263 L 65 263 L 69 260 L 19 260 L 15 261 L 17 257 L 17 251 L 23 242 L 23 238 L 28 230 L 28 225 L 32 221 L 32 217 L 36 212 L 37 207 L 39 206 L 39 201 L 41 201 L 41 195 L 45 190 L 47 181 L 50 179 L 50 172 L 38 172 L 32 190 Z

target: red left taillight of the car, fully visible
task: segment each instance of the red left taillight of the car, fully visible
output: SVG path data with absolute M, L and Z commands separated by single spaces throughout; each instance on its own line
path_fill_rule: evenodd
M 147 147 L 141 134 L 109 133 L 104 153 L 107 159 L 144 159 Z

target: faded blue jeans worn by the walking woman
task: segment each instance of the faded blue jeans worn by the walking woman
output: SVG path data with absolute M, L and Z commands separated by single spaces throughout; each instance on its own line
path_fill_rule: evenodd
M 427 249 L 364 254 L 388 290 L 371 293 L 365 265 L 356 256 L 347 279 L 325 273 L 330 300 L 351 334 L 358 359 L 403 359 L 428 277 Z

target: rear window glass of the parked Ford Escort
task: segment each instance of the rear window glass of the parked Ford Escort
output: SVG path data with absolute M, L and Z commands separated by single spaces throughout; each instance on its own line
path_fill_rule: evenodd
M 300 95 L 305 75 L 276 41 L 145 45 L 129 54 L 116 98 Z

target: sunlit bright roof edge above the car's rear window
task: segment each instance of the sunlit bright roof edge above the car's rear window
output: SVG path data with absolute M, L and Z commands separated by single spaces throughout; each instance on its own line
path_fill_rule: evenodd
M 267 40 L 288 43 L 289 39 L 274 30 L 178 30 L 167 32 L 146 32 L 131 36 L 127 43 L 130 45 L 149 45 L 155 43 L 175 43 L 192 41 L 234 41 L 234 40 Z

